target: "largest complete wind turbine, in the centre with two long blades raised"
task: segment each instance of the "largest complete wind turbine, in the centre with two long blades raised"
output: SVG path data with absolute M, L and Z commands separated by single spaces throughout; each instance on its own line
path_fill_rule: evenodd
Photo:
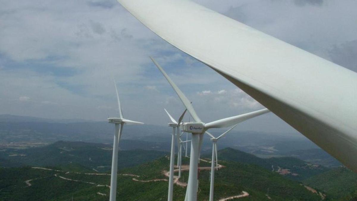
M 228 117 L 224 119 L 219 119 L 217 121 L 213 121 L 210 123 L 203 123 L 198 117 L 195 109 L 190 103 L 190 100 L 182 93 L 182 91 L 177 87 L 177 85 L 171 80 L 169 75 L 167 75 L 164 69 L 152 58 L 150 57 L 152 62 L 156 65 L 156 67 L 161 71 L 166 80 L 170 83 L 171 87 L 175 90 L 178 97 L 181 99 L 183 105 L 185 105 L 187 111 L 191 114 L 191 117 L 195 120 L 195 122 L 185 122 L 182 123 L 182 131 L 192 133 L 191 137 L 191 154 L 190 154 L 190 170 L 188 174 L 188 183 L 186 190 L 186 198 L 185 200 L 193 201 L 197 200 L 197 190 L 198 190 L 198 178 L 197 178 L 197 170 L 198 170 L 198 157 L 200 154 L 200 148 L 203 142 L 203 134 L 210 128 L 224 128 L 233 126 L 237 123 L 246 121 L 250 118 L 259 116 L 261 114 L 270 112 L 268 109 L 261 109 L 259 111 L 241 114 L 234 117 Z

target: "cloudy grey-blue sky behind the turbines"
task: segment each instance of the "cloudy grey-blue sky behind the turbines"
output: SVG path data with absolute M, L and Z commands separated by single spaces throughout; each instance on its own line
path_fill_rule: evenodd
M 357 71 L 356 0 L 196 1 Z M 126 118 L 165 125 L 163 108 L 177 117 L 183 106 L 150 55 L 205 122 L 262 108 L 115 0 L 0 0 L 0 5 L 0 114 L 103 121 L 117 115 L 115 78 Z M 295 132 L 274 114 L 237 129 Z

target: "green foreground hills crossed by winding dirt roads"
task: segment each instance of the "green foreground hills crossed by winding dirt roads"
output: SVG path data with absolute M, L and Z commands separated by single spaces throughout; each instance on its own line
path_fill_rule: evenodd
M 185 158 L 184 164 L 188 162 Z M 265 168 L 238 162 L 222 162 L 224 168 L 216 171 L 215 199 L 241 194 L 250 194 L 248 200 L 320 200 L 301 183 L 291 181 Z M 200 167 L 210 163 L 200 162 Z M 109 175 L 88 175 L 95 173 L 85 167 L 60 167 L 59 171 L 22 168 L 0 168 L 0 200 L 108 200 Z M 75 170 L 79 173 L 68 172 Z M 169 170 L 169 158 L 161 157 L 139 166 L 124 168 L 118 172 L 117 198 L 120 200 L 166 200 L 167 181 L 142 182 L 153 179 L 166 179 L 164 171 Z M 201 170 L 198 200 L 208 200 L 209 170 Z M 136 175 L 136 176 L 131 176 Z M 183 172 L 182 181 L 187 182 L 188 172 Z M 134 181 L 133 178 L 141 181 Z M 74 180 L 70 181 L 68 179 Z M 25 183 L 26 180 L 31 186 Z M 100 186 L 98 186 L 100 185 Z M 186 187 L 174 186 L 175 200 L 183 200 Z M 243 199 L 244 200 L 244 199 Z

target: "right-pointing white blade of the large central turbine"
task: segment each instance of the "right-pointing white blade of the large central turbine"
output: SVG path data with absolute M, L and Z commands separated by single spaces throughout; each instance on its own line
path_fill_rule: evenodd
M 228 126 L 233 126 L 234 124 L 237 123 L 241 123 L 243 121 L 246 121 L 248 119 L 251 119 L 253 117 L 265 114 L 270 112 L 268 109 L 261 109 L 255 112 L 250 112 L 250 113 L 246 113 L 246 114 L 241 114 L 238 116 L 234 116 L 234 117 L 228 117 L 228 118 L 224 118 L 224 119 L 220 119 L 217 121 L 213 121 L 210 123 L 206 123 L 205 124 L 205 129 L 208 128 L 224 128 L 224 127 L 228 127 Z

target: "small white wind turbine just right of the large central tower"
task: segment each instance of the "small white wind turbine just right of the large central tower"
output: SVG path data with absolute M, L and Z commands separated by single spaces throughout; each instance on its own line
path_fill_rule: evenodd
M 232 128 L 228 129 L 228 131 L 224 132 L 223 134 L 221 134 L 218 137 L 214 137 L 211 133 L 208 133 L 206 131 L 206 133 L 211 136 L 211 141 L 213 144 L 212 147 L 212 160 L 211 160 L 211 184 L 210 184 L 210 201 L 213 201 L 213 186 L 215 183 L 215 160 L 216 160 L 216 168 L 218 170 L 218 156 L 217 156 L 217 141 L 218 139 L 224 137 L 228 132 L 230 132 L 233 128 L 235 128 L 238 124 L 236 124 L 235 126 L 233 126 Z

